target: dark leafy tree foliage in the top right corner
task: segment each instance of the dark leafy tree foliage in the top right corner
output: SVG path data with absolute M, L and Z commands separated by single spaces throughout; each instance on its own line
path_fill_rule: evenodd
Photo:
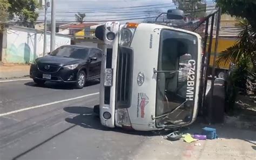
M 256 1 L 255 0 L 214 0 L 222 12 L 231 16 L 246 18 L 256 32 Z

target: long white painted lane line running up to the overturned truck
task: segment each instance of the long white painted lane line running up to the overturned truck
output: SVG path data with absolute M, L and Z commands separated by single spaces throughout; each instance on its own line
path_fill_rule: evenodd
M 37 106 L 32 106 L 32 107 L 26 107 L 26 108 L 22 108 L 22 109 L 20 109 L 20 110 L 15 110 L 15 111 L 7 112 L 7 113 L 2 113 L 2 114 L 0 114 L 0 117 L 3 117 L 3 116 L 5 116 L 5 115 L 9 115 L 9 114 L 18 113 L 18 112 L 23 112 L 23 111 L 32 110 L 32 109 L 35 109 L 35 108 L 45 107 L 45 106 L 49 106 L 49 105 L 53 105 L 53 104 L 57 104 L 57 103 L 63 103 L 64 101 L 70 101 L 70 100 L 80 99 L 80 98 L 84 98 L 84 97 L 94 96 L 94 95 L 96 95 L 96 94 L 99 94 L 99 92 L 97 92 L 97 93 L 92 93 L 92 94 L 86 94 L 86 95 L 84 95 L 84 96 L 79 96 L 79 97 L 70 98 L 70 99 L 64 99 L 64 100 L 59 100 L 59 101 L 53 101 L 53 102 L 51 102 L 51 103 L 46 103 L 46 104 L 42 104 L 42 105 L 37 105 Z

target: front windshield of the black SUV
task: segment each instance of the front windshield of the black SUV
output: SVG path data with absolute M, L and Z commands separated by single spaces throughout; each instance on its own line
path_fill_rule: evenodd
M 51 56 L 62 56 L 62 57 L 71 57 L 73 59 L 86 59 L 89 53 L 88 48 L 79 48 L 73 46 L 62 46 L 53 50 L 50 54 Z

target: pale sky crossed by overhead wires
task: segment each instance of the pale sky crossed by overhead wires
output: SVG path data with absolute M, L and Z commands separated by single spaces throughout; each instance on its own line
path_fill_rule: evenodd
M 172 0 L 55 0 L 56 21 L 75 21 L 77 12 L 85 13 L 85 21 L 134 19 L 156 17 L 161 12 L 175 9 Z M 206 0 L 212 4 L 212 0 Z M 51 3 L 50 3 L 51 6 Z M 51 7 L 48 20 L 51 19 Z M 44 10 L 39 11 L 38 21 L 44 20 Z

